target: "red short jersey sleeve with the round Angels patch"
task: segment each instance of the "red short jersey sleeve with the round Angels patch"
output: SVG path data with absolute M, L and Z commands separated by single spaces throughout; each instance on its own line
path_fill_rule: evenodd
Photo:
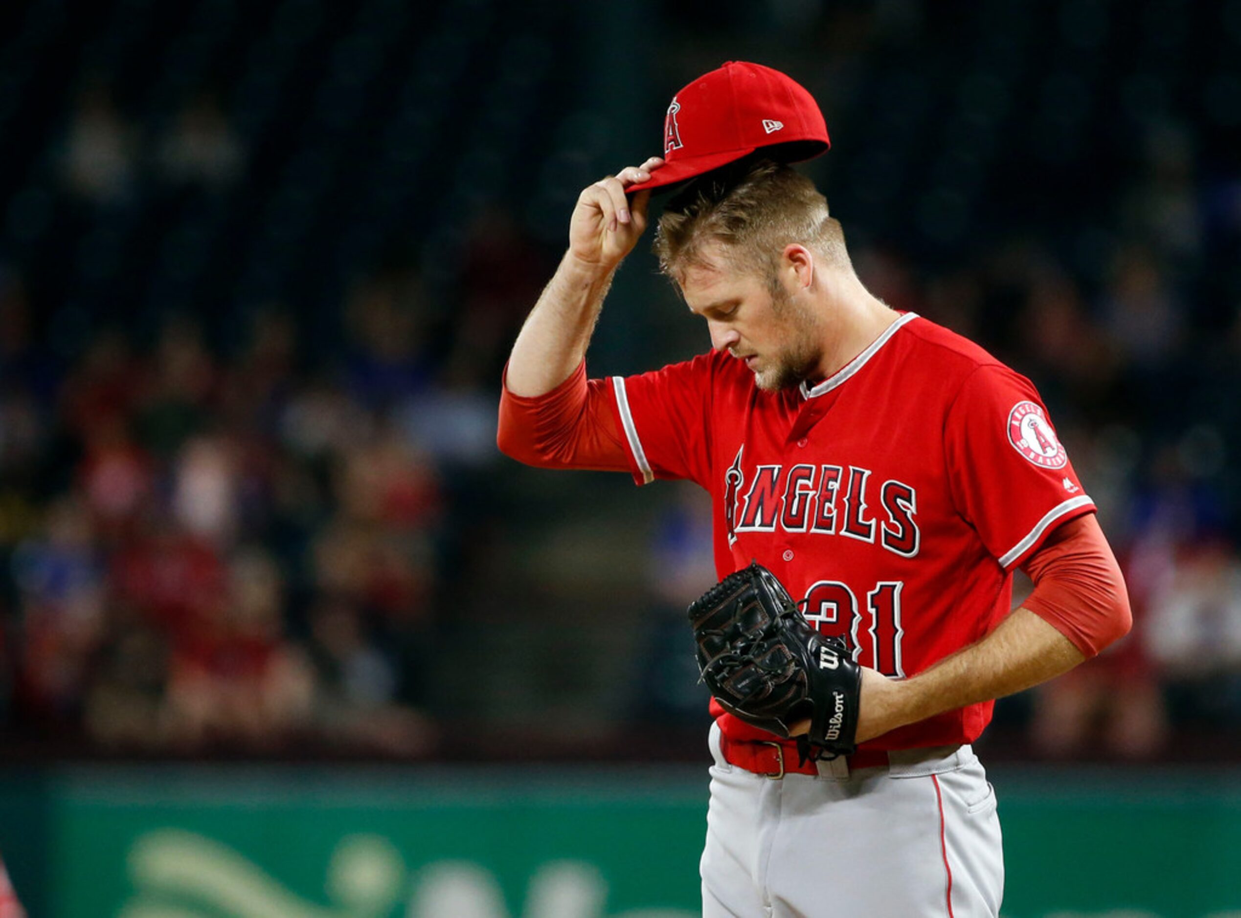
M 1003 365 L 965 378 L 944 422 L 944 453 L 957 510 L 1001 567 L 1095 510 L 1034 385 Z

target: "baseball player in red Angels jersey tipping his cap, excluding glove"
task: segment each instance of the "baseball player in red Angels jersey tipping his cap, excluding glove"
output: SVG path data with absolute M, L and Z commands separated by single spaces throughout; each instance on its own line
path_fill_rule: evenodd
M 664 145 L 582 191 L 513 347 L 500 448 L 696 481 L 719 576 L 758 562 L 860 665 L 850 754 L 807 755 L 807 722 L 773 733 L 712 701 L 704 914 L 997 916 L 995 796 L 970 743 L 994 698 L 1128 630 L 1095 504 L 1028 380 L 860 283 L 827 201 L 784 164 L 828 145 L 800 86 L 727 63 L 676 94 Z M 655 249 L 711 351 L 591 380 L 650 189 L 686 180 Z M 1018 568 L 1035 588 L 1013 610 Z

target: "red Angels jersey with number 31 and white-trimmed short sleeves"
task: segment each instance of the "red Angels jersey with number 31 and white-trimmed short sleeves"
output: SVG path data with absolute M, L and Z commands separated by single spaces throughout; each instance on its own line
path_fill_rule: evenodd
M 613 377 L 635 480 L 714 502 L 721 578 L 757 559 L 858 660 L 912 676 L 1009 614 L 1013 569 L 1095 504 L 1029 380 L 913 313 L 828 380 L 764 392 L 714 351 Z M 908 724 L 876 749 L 968 743 L 994 702 Z M 769 734 L 724 712 L 726 736 Z

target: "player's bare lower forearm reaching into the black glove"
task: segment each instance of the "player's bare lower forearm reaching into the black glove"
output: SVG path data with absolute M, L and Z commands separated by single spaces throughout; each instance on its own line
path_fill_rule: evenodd
M 907 723 L 1030 688 L 1067 672 L 1086 656 L 1029 609 L 1016 609 L 977 644 L 918 675 L 862 684 L 858 742 Z

